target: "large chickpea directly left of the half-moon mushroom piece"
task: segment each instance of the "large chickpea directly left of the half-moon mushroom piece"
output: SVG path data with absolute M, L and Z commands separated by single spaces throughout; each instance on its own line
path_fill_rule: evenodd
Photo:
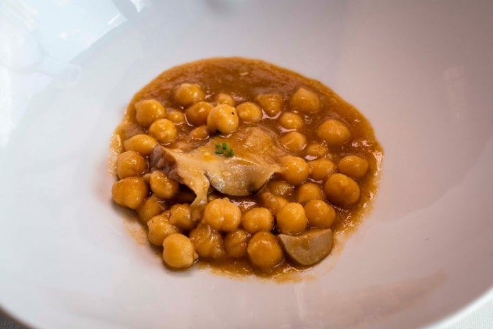
M 270 232 L 257 232 L 247 247 L 250 262 L 262 269 L 273 269 L 284 259 L 283 250 L 277 238 Z

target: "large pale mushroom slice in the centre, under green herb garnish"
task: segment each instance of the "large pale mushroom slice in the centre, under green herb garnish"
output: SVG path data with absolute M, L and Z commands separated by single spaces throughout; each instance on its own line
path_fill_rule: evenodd
M 227 145 L 234 154 L 216 154 L 216 145 Z M 163 169 L 194 191 L 197 197 L 190 204 L 190 212 L 192 219 L 199 220 L 207 204 L 209 186 L 225 195 L 253 195 L 281 171 L 277 163 L 280 155 L 283 153 L 273 136 L 259 127 L 247 127 L 228 137 L 211 138 L 188 152 L 158 145 L 151 164 L 153 169 Z

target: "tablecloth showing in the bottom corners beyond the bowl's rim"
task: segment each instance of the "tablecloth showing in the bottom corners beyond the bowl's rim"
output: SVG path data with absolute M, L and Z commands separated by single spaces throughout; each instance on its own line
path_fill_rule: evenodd
M 442 329 L 485 329 L 493 328 L 493 298 L 471 313 L 457 319 Z M 0 314 L 0 329 L 26 329 Z

